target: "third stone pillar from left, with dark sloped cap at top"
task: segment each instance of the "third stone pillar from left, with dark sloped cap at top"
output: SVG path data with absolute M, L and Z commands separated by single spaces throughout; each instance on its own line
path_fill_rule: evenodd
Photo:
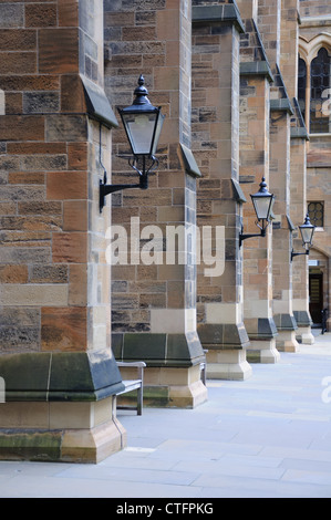
M 198 334 L 208 350 L 208 378 L 245 379 L 251 367 L 246 360 L 249 341 L 242 321 L 238 241 L 245 200 L 239 186 L 239 33 L 244 28 L 234 4 L 195 3 L 193 149 L 203 173 L 197 221 L 200 233 L 209 227 L 224 242 L 214 254 L 214 268 L 201 259 L 198 269 Z

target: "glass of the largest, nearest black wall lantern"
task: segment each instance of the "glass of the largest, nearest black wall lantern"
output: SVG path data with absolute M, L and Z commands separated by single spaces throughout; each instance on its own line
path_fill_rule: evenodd
M 157 113 L 123 114 L 123 123 L 135 155 L 149 155 Z

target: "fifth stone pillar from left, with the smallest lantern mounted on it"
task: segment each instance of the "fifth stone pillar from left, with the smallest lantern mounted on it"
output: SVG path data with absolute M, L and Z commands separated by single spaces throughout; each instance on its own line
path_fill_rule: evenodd
M 296 352 L 298 329 L 292 310 L 292 264 L 290 222 L 290 117 L 293 114 L 279 69 L 281 0 L 261 0 L 259 30 L 273 73 L 270 89 L 270 190 L 275 193 L 272 220 L 273 318 L 278 351 Z

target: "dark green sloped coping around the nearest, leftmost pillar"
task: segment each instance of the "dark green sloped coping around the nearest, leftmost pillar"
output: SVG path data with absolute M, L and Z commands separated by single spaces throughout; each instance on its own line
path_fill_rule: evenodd
M 111 350 L 4 354 L 0 375 L 7 402 L 95 402 L 124 389 Z

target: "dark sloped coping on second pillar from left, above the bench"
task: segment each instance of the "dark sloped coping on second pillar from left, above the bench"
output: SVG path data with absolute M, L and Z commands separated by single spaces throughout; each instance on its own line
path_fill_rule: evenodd
M 196 332 L 114 334 L 113 352 L 117 361 L 144 361 L 154 367 L 189 367 L 205 361 Z

